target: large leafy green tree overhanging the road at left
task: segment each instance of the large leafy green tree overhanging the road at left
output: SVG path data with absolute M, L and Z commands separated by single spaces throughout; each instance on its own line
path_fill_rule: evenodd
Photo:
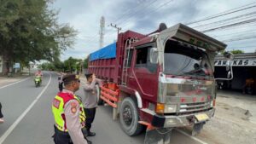
M 28 64 L 35 60 L 59 60 L 61 51 L 72 47 L 77 32 L 57 22 L 58 12 L 48 7 L 51 2 L 0 1 L 0 55 L 10 62 Z

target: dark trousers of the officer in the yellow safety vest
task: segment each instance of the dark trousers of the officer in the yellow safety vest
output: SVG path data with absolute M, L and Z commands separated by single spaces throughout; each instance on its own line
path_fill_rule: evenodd
M 55 127 L 55 135 L 53 135 L 55 144 L 73 144 L 68 132 L 63 132 Z

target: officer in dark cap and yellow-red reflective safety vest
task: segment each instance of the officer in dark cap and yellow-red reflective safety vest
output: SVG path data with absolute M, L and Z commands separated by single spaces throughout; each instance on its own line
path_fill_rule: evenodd
M 52 112 L 55 118 L 55 144 L 87 144 L 82 133 L 85 114 L 82 102 L 74 95 L 80 80 L 74 74 L 62 78 L 64 89 L 55 96 Z M 90 143 L 90 141 L 88 141 Z

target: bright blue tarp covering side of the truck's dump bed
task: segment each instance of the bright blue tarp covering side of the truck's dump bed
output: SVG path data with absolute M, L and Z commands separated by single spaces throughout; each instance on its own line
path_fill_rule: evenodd
M 90 61 L 99 59 L 111 59 L 116 57 L 116 43 L 109 44 L 108 46 L 97 50 L 90 54 Z

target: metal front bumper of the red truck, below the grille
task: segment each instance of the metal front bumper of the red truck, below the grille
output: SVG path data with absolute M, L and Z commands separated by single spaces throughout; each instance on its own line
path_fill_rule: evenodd
M 158 128 L 173 128 L 173 127 L 189 126 L 191 124 L 196 124 L 196 123 L 202 122 L 202 121 L 198 121 L 195 118 L 195 115 L 207 114 L 208 118 L 212 118 L 214 115 L 214 112 L 215 112 L 215 108 L 209 109 L 206 112 L 197 112 L 197 113 L 191 113 L 191 114 L 179 115 L 179 116 L 176 116 L 176 115 L 160 116 L 155 113 L 151 124 L 154 127 L 158 127 Z M 207 121 L 207 120 L 205 120 L 205 121 Z

